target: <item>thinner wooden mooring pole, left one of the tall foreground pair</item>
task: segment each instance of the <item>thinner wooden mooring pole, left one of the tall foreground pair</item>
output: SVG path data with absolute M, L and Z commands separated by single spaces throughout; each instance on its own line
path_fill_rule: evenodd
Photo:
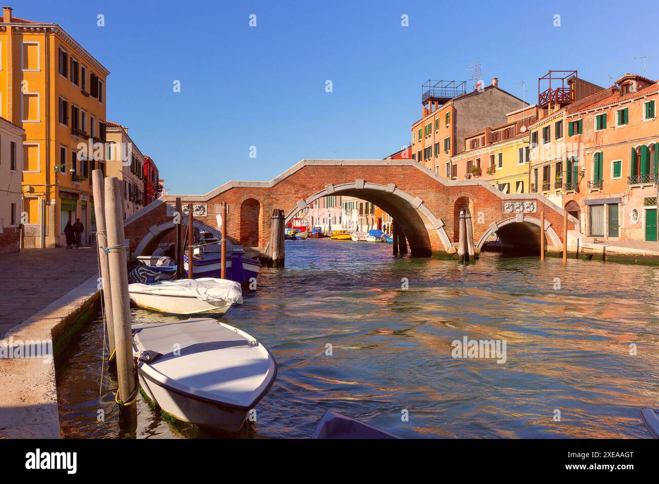
M 111 357 L 115 348 L 115 328 L 112 317 L 112 291 L 107 267 L 107 228 L 105 225 L 105 180 L 103 171 L 92 171 L 92 190 L 94 192 L 94 215 L 96 215 L 96 245 L 98 246 L 98 262 L 101 266 L 101 290 L 103 294 L 103 309 L 105 310 L 105 325 L 107 326 L 107 340 L 109 342 L 109 356 Z

